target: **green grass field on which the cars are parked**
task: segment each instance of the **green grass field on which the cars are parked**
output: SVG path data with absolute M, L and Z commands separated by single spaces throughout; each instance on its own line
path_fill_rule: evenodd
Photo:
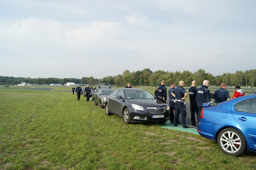
M 200 135 L 127 125 L 71 91 L 0 89 L 0 170 L 256 169 L 255 161 Z

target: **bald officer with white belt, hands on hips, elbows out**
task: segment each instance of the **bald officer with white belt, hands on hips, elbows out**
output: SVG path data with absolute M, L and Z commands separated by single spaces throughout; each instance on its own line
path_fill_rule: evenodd
M 181 122 L 183 128 L 189 128 L 186 124 L 186 106 L 184 104 L 185 99 L 187 97 L 187 92 L 185 88 L 183 88 L 185 83 L 183 81 L 179 82 L 177 88 L 175 88 L 174 92 L 171 92 L 173 96 L 175 96 L 175 114 L 173 120 L 173 126 L 178 126 L 178 119 L 181 113 Z

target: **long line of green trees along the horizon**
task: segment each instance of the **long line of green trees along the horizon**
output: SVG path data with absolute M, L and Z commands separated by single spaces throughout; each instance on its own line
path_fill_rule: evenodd
M 137 86 L 157 86 L 162 80 L 165 80 L 166 85 L 169 86 L 170 83 L 174 82 L 178 84 L 180 80 L 185 82 L 185 85 L 190 85 L 193 80 L 197 82 L 198 85 L 201 85 L 204 80 L 209 80 L 210 85 L 219 86 L 220 83 L 224 82 L 228 86 L 256 86 L 256 69 L 246 70 L 246 71 L 236 71 L 235 73 L 224 73 L 222 75 L 213 76 L 210 73 L 206 73 L 203 69 L 199 69 L 192 73 L 191 71 L 151 71 L 149 68 L 145 68 L 141 71 L 130 72 L 126 70 L 123 74 L 116 76 L 107 76 L 102 79 L 97 79 L 91 77 L 82 77 L 81 79 L 77 78 L 15 78 L 8 76 L 0 76 L 1 84 L 20 84 L 20 82 L 26 82 L 30 84 L 51 84 L 59 83 L 65 84 L 66 82 L 74 82 L 76 84 L 90 84 L 97 85 L 98 83 L 108 83 L 111 85 L 116 85 L 117 87 L 125 86 L 127 83 Z

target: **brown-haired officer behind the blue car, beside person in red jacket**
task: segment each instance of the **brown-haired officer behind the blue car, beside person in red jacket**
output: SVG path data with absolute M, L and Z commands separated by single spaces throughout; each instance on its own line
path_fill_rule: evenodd
M 226 90 L 227 85 L 225 83 L 220 84 L 220 88 L 216 90 L 213 94 L 214 102 L 225 102 L 230 100 L 229 91 Z

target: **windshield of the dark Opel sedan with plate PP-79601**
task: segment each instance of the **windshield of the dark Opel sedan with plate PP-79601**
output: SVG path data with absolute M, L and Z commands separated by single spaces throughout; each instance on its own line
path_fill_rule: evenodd
M 127 99 L 155 99 L 150 92 L 142 90 L 126 90 L 125 95 Z

